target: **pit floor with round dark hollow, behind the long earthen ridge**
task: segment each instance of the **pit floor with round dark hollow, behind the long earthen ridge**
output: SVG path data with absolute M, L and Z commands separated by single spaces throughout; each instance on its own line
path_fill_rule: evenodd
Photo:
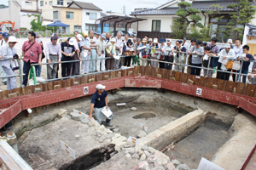
M 148 127 L 148 132 L 151 133 L 166 124 L 175 121 L 177 118 L 188 114 L 194 109 L 183 107 L 179 104 L 165 104 L 161 99 L 157 99 L 157 103 L 137 104 L 135 102 L 127 103 L 125 106 L 116 106 L 110 103 L 110 108 L 114 113 L 113 125 L 119 128 L 119 133 L 126 138 L 129 136 L 137 137 L 140 131 L 143 131 L 140 124 Z M 121 103 L 121 102 L 120 102 Z M 136 107 L 137 111 L 131 111 L 131 107 Z

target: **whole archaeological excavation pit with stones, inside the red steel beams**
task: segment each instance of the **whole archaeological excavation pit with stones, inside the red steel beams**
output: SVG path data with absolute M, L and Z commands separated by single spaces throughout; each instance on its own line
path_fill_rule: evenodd
M 247 113 L 239 114 L 234 106 L 151 88 L 108 92 L 108 105 L 114 113 L 113 128 L 74 120 L 73 109 L 89 113 L 90 99 L 91 96 L 85 96 L 52 105 L 29 118 L 17 116 L 13 129 L 18 136 L 20 156 L 37 170 L 132 169 L 174 142 L 173 158 L 191 169 L 198 167 L 201 157 L 228 167 L 219 157 L 223 158 L 221 151 L 243 128 L 237 116 L 246 115 L 243 122 L 255 126 L 254 117 L 248 121 Z M 125 105 L 118 106 L 119 103 Z M 142 146 L 147 145 L 148 151 L 137 152 L 127 142 L 130 136 Z M 75 159 L 61 149 L 60 141 L 75 150 Z M 142 168 L 167 169 L 172 151 L 165 150 L 161 156 L 166 161 L 151 160 Z M 225 159 L 228 161 L 229 157 Z

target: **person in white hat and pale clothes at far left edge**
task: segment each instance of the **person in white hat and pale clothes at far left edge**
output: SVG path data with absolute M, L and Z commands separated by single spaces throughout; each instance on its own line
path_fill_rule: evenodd
M 17 40 L 14 36 L 9 37 L 9 41 L 1 48 L 1 56 L 3 60 L 0 64 L 3 67 L 3 71 L 6 73 L 6 76 L 15 76 L 14 68 L 14 61 L 13 59 L 18 59 L 19 56 L 17 55 L 17 51 L 15 48 L 15 44 Z M 8 77 L 7 78 L 7 90 L 17 88 L 16 85 L 16 77 Z

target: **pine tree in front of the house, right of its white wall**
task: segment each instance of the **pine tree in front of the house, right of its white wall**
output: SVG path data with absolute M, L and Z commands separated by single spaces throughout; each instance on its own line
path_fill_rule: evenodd
M 191 24 L 192 26 L 203 27 L 199 22 L 201 20 L 201 16 L 198 15 L 201 13 L 200 10 L 196 8 L 191 8 L 191 3 L 181 2 L 177 3 L 179 9 L 176 12 L 176 15 L 180 17 L 180 20 L 183 23 L 183 32 L 184 35 L 187 34 L 187 28 Z M 177 20 L 178 21 L 178 20 Z

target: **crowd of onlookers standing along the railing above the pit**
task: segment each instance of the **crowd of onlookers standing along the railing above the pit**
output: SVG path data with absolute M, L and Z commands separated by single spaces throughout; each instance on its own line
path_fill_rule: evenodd
M 251 60 L 256 57 L 248 54 L 249 46 L 241 45 L 237 39 L 235 45 L 229 39 L 224 48 L 217 45 L 218 39 L 212 38 L 210 43 L 191 38 L 190 44 L 186 38 L 177 40 L 172 44 L 172 39 L 150 38 L 147 35 L 141 38 L 121 37 L 118 32 L 112 37 L 108 32 L 102 34 L 98 31 L 74 31 L 74 37 L 68 37 L 66 41 L 60 42 L 57 34 L 50 37 L 50 41 L 43 45 L 38 32 L 28 32 L 28 40 L 23 43 L 23 82 L 26 86 L 29 71 L 32 64 L 35 66 L 37 77 L 41 76 L 42 59 L 46 58 L 47 78 L 58 78 L 58 71 L 61 65 L 61 77 L 71 77 L 80 74 L 88 74 L 97 71 L 111 71 L 121 66 L 131 65 L 152 65 L 167 70 L 186 72 L 201 76 L 203 69 L 204 77 L 212 77 L 213 68 L 216 67 L 217 78 L 230 79 L 230 72 L 233 73 L 234 82 L 240 81 L 238 73 L 248 73 Z M 15 69 L 19 65 L 15 62 L 18 59 L 15 48 L 16 38 L 7 32 L 0 32 L 0 58 L 1 76 L 3 84 L 7 89 L 16 88 Z M 124 58 L 122 56 L 125 56 Z M 207 69 L 209 68 L 209 69 Z M 256 63 L 253 63 L 253 74 L 248 80 L 255 84 Z M 230 71 L 230 72 L 226 72 Z M 236 74 L 237 73 L 237 74 Z M 247 76 L 242 76 L 242 82 L 246 82 Z

